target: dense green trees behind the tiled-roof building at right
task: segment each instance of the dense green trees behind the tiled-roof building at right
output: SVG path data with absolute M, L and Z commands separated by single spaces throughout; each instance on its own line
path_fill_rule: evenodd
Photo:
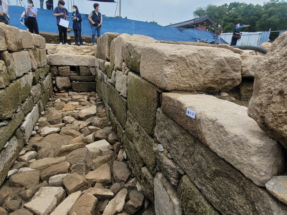
M 262 5 L 232 2 L 216 6 L 209 4 L 196 8 L 195 18 L 208 15 L 217 24 L 221 24 L 223 32 L 233 32 L 235 22 L 250 25 L 244 31 L 268 31 L 287 29 L 287 2 L 270 0 Z

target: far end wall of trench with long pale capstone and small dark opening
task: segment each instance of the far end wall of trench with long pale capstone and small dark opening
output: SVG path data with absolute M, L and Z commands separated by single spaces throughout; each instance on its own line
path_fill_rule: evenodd
M 96 90 L 95 58 L 87 55 L 50 54 L 54 91 L 90 92 Z

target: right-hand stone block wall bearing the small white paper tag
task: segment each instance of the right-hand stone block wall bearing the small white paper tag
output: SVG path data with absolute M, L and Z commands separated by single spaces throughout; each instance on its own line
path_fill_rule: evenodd
M 283 174 L 283 147 L 235 104 L 248 105 L 265 57 L 236 52 L 143 35 L 97 42 L 97 93 L 157 215 L 287 213 L 265 188 Z

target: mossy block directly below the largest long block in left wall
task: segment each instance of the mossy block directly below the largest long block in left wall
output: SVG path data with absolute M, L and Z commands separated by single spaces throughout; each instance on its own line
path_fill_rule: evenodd
M 15 117 L 12 120 L 9 120 L 8 124 L 0 127 L 0 149 L 6 144 L 9 138 L 14 133 L 15 129 L 21 124 L 24 119 L 24 113 L 20 110 L 15 114 Z

